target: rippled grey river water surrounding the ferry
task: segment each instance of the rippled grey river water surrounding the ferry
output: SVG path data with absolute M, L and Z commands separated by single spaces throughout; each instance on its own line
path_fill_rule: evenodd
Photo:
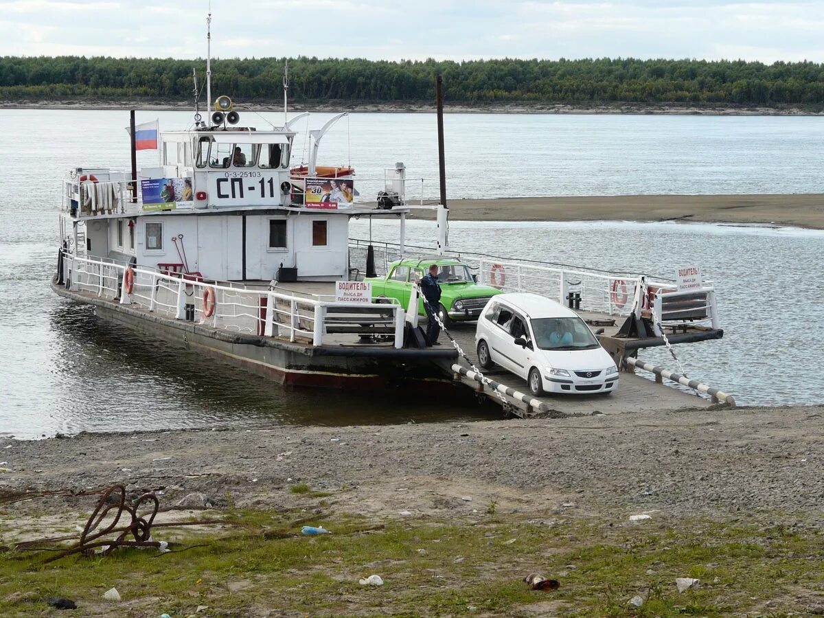
M 312 115 L 311 128 L 328 117 Z M 138 122 L 155 118 L 165 129 L 190 121 L 184 112 L 138 112 Z M 250 124 L 264 126 L 259 120 Z M 99 322 L 90 308 L 51 293 L 59 179 L 75 166 L 128 167 L 128 121 L 119 111 L 0 111 L 6 162 L 0 178 L 0 435 L 489 418 L 469 399 L 433 410 L 410 397 L 284 389 Z M 431 197 L 437 193 L 434 124 L 433 115 L 351 115 L 324 138 L 321 161 L 350 160 L 362 187 L 405 162 L 410 177 L 428 179 L 424 195 Z M 817 118 L 447 115 L 446 126 L 448 190 L 455 198 L 824 193 L 824 124 Z M 298 134 L 298 153 L 303 141 Z M 157 162 L 152 152 L 138 154 L 138 165 Z M 353 224 L 353 236 L 365 232 L 363 223 Z M 386 224 L 376 223 L 373 232 L 396 240 Z M 410 243 L 431 244 L 433 224 L 412 222 L 408 233 Z M 733 392 L 741 404 L 824 400 L 822 232 L 455 222 L 450 241 L 459 250 L 667 278 L 674 265 L 700 265 L 719 289 L 726 335 L 681 346 L 688 372 Z M 644 358 L 672 366 L 662 350 Z

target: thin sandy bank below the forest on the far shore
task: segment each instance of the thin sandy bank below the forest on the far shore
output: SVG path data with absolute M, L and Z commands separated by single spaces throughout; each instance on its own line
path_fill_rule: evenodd
M 0 101 L 5 109 L 49 110 L 190 110 L 190 101 L 151 101 L 143 99 L 65 99 Z M 248 101 L 239 110 L 279 111 L 282 101 Z M 292 111 L 358 112 L 358 113 L 434 113 L 430 101 L 385 101 L 380 103 L 353 101 L 290 102 Z M 679 105 L 676 103 L 609 103 L 602 105 L 565 105 L 562 103 L 450 103 L 444 105 L 447 114 L 630 114 L 630 115 L 714 115 L 714 116 L 784 116 L 824 115 L 802 105 L 759 107 L 748 105 Z

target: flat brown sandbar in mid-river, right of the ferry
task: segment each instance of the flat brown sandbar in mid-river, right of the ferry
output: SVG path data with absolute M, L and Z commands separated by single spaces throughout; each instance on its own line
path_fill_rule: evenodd
M 448 199 L 453 221 L 683 221 L 824 229 L 824 195 L 615 195 Z M 429 213 L 416 217 L 432 218 Z

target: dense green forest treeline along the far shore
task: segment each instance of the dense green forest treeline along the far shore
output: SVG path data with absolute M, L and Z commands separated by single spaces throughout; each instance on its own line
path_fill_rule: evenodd
M 213 93 L 240 101 L 278 100 L 285 59 L 214 60 Z M 441 73 L 447 103 L 824 104 L 824 64 L 705 60 L 520 60 L 466 62 L 289 59 L 289 97 L 316 101 L 432 101 Z M 0 98 L 186 101 L 192 68 L 204 60 L 0 58 Z

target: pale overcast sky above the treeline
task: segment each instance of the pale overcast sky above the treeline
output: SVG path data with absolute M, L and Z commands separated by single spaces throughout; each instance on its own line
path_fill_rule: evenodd
M 208 0 L 0 0 L 0 55 L 205 56 Z M 232 0 L 213 56 L 824 61 L 824 2 Z

